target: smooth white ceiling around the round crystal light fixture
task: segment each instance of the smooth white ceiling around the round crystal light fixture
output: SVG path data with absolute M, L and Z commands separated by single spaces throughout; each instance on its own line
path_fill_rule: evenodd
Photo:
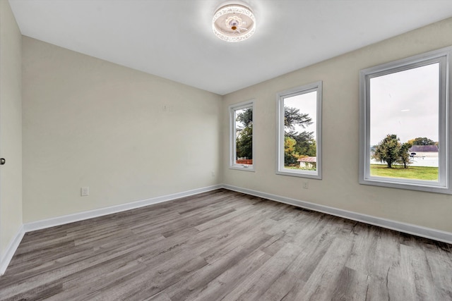
M 23 35 L 217 94 L 452 16 L 451 0 L 245 1 L 256 33 L 228 43 L 222 0 L 9 0 Z

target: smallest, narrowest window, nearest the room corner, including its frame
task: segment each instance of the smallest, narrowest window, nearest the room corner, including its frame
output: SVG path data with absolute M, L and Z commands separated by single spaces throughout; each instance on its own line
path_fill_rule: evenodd
M 253 101 L 230 106 L 230 168 L 254 171 L 253 108 Z

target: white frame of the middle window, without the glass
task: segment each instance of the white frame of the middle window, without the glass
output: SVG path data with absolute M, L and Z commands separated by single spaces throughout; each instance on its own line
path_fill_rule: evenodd
M 316 97 L 316 171 L 304 171 L 297 169 L 289 169 L 284 166 L 284 100 L 288 97 L 294 97 L 300 94 L 310 92 L 317 92 Z M 278 104 L 278 134 L 276 145 L 276 174 L 283 176 L 295 176 L 302 178 L 322 178 L 322 81 L 313 82 L 309 85 L 295 87 L 290 90 L 285 90 L 277 94 Z

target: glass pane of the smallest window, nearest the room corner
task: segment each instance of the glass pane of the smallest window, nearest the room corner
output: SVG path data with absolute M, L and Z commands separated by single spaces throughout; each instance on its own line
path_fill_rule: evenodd
M 235 164 L 253 164 L 253 108 L 234 111 Z

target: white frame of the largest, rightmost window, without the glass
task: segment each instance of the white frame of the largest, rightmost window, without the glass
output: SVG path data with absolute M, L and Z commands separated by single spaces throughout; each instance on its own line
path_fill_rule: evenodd
M 451 70 L 452 47 L 429 51 L 407 59 L 385 63 L 361 70 L 359 73 L 359 183 L 389 188 L 421 190 L 452 194 L 451 177 L 451 140 L 449 139 L 451 106 L 448 95 L 451 93 L 449 70 Z M 387 178 L 370 175 L 370 79 L 381 75 L 397 73 L 411 68 L 439 63 L 439 180 L 412 180 Z

